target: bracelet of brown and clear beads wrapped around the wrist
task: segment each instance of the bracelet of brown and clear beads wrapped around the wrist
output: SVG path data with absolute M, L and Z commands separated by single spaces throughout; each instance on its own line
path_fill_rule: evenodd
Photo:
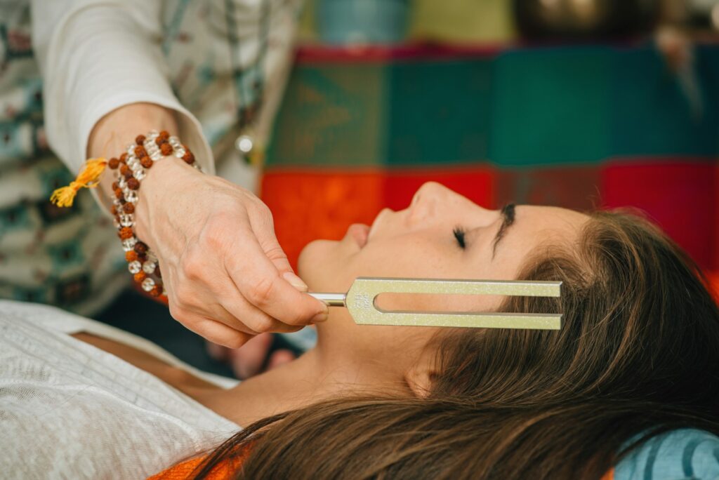
M 134 144 L 127 146 L 126 152 L 107 162 L 115 175 L 115 182 L 112 184 L 115 198 L 111 212 L 117 235 L 122 241 L 122 249 L 125 251 L 127 269 L 142 290 L 153 297 L 162 296 L 163 300 L 167 297 L 163 295 L 160 265 L 150 247 L 137 239 L 134 233 L 134 210 L 139 200 L 140 182 L 147 175 L 147 170 L 155 162 L 173 155 L 202 171 L 190 149 L 165 130 L 152 130 L 147 136 L 138 135 Z

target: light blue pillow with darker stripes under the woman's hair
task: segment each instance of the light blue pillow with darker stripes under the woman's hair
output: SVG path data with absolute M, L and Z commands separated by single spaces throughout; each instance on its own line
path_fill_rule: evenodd
M 704 430 L 672 430 L 623 458 L 614 480 L 719 479 L 719 437 Z

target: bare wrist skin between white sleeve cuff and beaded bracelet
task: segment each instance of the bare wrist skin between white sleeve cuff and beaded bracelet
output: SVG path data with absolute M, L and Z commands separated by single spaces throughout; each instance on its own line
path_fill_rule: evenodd
M 137 135 L 146 135 L 148 131 L 167 130 L 171 134 L 178 132 L 175 111 L 153 103 L 132 103 L 122 106 L 103 116 L 93 127 L 88 139 L 87 157 L 119 157 L 134 142 Z M 111 185 L 114 176 L 107 170 L 102 176 L 98 195 L 101 203 L 109 210 L 114 199 Z

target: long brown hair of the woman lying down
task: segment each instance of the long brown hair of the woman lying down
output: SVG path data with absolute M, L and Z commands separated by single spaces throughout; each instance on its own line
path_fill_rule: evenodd
M 648 221 L 591 214 L 576 248 L 520 278 L 560 299 L 560 331 L 452 329 L 429 396 L 343 398 L 268 417 L 216 448 L 204 478 L 252 443 L 238 479 L 598 479 L 659 433 L 719 433 L 719 311 L 699 269 Z

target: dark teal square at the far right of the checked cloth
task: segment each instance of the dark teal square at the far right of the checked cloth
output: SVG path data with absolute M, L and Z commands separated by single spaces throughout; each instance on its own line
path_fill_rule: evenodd
M 612 152 L 620 156 L 717 153 L 716 50 L 697 55 L 696 95 L 687 93 L 654 47 L 615 54 Z M 692 100 L 692 98 L 695 98 Z

